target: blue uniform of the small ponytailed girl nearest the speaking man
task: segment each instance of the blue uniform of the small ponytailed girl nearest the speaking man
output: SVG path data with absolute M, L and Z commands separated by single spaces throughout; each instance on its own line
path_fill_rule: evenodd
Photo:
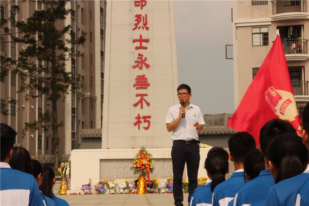
M 205 183 L 197 187 L 190 197 L 189 206 L 211 206 L 212 202 L 212 191 L 210 189 L 211 182 Z

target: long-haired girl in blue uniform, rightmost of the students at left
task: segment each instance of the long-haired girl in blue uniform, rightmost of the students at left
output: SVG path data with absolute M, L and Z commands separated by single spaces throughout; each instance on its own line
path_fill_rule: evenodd
M 53 186 L 55 184 L 55 173 L 54 170 L 44 165 L 44 172 L 43 172 L 43 182 L 40 185 L 40 191 L 46 196 L 53 199 L 57 206 L 69 206 L 66 200 L 62 200 L 59 197 L 56 197 L 53 194 Z

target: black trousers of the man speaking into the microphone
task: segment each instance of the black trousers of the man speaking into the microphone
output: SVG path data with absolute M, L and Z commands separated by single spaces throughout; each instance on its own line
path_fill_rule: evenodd
M 186 144 L 184 142 L 174 141 L 171 151 L 173 165 L 173 195 L 175 205 L 183 205 L 184 194 L 182 192 L 182 178 L 184 174 L 184 165 L 187 163 L 189 196 L 197 188 L 197 172 L 200 164 L 200 147 L 197 143 Z

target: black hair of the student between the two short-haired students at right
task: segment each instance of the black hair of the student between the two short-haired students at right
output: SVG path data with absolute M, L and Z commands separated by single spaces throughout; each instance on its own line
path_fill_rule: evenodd
M 251 180 L 259 176 L 260 172 L 265 170 L 264 155 L 259 150 L 249 152 L 245 156 L 243 170 Z M 245 182 L 247 182 L 246 176 Z

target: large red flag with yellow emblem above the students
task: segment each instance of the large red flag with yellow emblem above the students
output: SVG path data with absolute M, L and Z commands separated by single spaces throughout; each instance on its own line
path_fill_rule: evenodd
M 274 118 L 290 122 L 302 134 L 279 34 L 227 127 L 250 133 L 259 146 L 261 127 Z

